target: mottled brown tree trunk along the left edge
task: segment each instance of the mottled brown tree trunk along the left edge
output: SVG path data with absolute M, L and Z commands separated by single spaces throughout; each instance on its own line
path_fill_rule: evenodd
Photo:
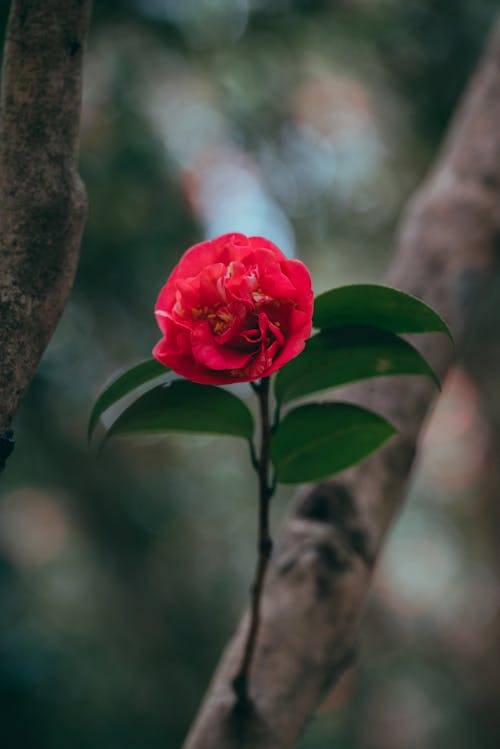
M 0 434 L 73 282 L 86 217 L 77 174 L 90 0 L 13 0 L 0 123 Z

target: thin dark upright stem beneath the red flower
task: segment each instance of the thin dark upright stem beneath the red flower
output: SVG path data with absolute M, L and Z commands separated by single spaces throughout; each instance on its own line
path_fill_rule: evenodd
M 250 626 L 248 629 L 243 658 L 238 673 L 233 679 L 238 704 L 248 705 L 248 674 L 257 641 L 260 623 L 260 608 L 262 588 L 267 565 L 271 557 L 273 542 L 269 533 L 269 504 L 274 492 L 274 486 L 269 482 L 269 448 L 271 442 L 271 421 L 269 418 L 269 377 L 263 377 L 260 385 L 254 387 L 259 396 L 261 417 L 260 455 L 256 469 L 259 475 L 259 536 L 258 560 L 255 578 L 251 589 Z

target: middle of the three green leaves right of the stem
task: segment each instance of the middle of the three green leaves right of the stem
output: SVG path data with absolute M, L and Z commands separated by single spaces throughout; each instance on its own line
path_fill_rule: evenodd
M 428 375 L 432 368 L 410 343 L 394 333 L 345 327 L 313 336 L 300 356 L 286 364 L 275 381 L 280 403 L 347 382 L 387 375 Z

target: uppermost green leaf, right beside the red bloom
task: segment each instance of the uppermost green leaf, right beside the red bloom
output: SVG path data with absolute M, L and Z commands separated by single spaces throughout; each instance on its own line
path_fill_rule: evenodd
M 450 329 L 437 312 L 402 291 L 375 284 L 341 286 L 314 300 L 316 328 L 371 325 L 391 333 L 446 333 Z M 453 340 L 453 339 L 452 339 Z

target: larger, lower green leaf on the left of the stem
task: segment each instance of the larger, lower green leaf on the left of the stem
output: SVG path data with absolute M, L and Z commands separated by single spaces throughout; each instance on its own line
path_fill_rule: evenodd
M 230 434 L 251 440 L 252 414 L 227 390 L 174 380 L 138 398 L 123 411 L 107 436 L 130 432 L 202 432 Z

